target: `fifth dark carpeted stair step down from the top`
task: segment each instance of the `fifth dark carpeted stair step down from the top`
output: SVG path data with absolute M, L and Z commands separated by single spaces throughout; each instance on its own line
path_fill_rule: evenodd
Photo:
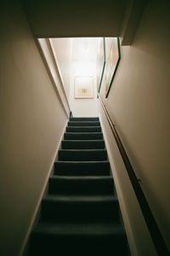
M 64 140 L 61 143 L 62 149 L 103 149 L 104 140 Z

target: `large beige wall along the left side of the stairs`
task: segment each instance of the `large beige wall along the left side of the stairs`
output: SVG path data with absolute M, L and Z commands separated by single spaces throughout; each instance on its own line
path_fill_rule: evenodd
M 18 256 L 67 116 L 20 1 L 1 4 L 0 31 L 0 251 Z

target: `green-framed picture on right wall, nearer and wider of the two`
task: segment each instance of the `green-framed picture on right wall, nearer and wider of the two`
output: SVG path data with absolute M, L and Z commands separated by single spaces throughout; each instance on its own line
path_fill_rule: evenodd
M 107 50 L 107 59 L 105 64 L 105 97 L 107 97 L 111 90 L 111 84 L 121 59 L 121 50 L 119 38 L 105 38 L 105 40 L 108 40 L 109 42 L 108 44 L 105 42 Z

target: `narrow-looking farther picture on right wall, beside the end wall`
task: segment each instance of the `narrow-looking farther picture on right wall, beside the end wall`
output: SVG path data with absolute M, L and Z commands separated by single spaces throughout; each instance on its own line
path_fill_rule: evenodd
M 99 50 L 97 53 L 97 92 L 99 93 L 105 70 L 105 38 L 99 41 Z

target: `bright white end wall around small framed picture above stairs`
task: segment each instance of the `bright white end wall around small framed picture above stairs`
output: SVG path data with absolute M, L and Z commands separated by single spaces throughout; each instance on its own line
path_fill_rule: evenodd
M 71 49 L 71 109 L 74 116 L 98 116 L 96 61 L 98 38 L 72 38 Z M 75 77 L 94 78 L 94 98 L 75 98 Z

